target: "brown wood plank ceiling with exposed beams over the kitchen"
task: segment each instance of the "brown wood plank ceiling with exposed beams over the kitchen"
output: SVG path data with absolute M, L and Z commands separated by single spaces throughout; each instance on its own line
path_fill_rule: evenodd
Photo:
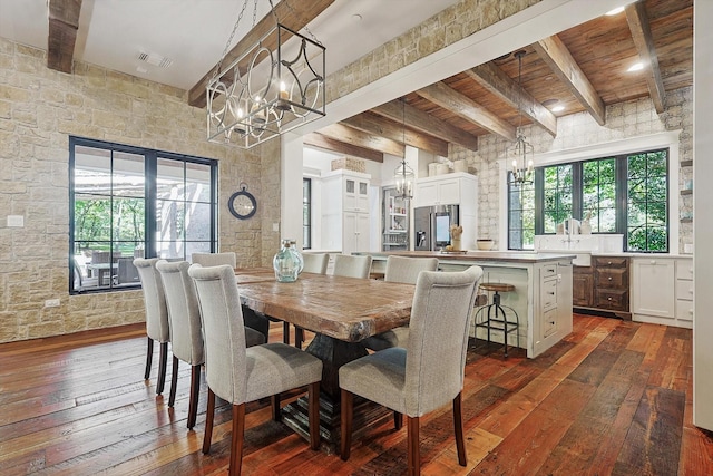
M 449 143 L 477 150 L 486 134 L 512 140 L 518 104 L 524 126 L 553 136 L 558 116 L 586 110 L 604 126 L 606 106 L 645 96 L 661 114 L 667 93 L 693 85 L 693 0 L 641 0 L 522 50 L 521 86 L 518 59 L 505 55 L 312 133 L 305 144 L 382 162 L 384 153 L 403 156 L 404 144 L 447 156 Z M 628 72 L 637 61 L 645 67 Z

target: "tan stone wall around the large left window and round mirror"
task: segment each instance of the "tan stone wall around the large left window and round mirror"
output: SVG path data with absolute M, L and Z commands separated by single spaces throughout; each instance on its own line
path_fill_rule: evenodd
M 0 38 L 0 342 L 144 320 L 140 291 L 69 295 L 70 135 L 219 161 L 219 247 L 241 265 L 270 263 L 279 233 L 263 230 L 280 216 L 279 140 L 251 152 L 211 144 L 205 109 L 186 97 L 84 62 L 71 75 L 50 70 L 43 50 Z M 258 200 L 253 220 L 227 212 L 241 181 Z M 25 227 L 7 227 L 7 215 Z M 45 308 L 48 299 L 60 305 Z

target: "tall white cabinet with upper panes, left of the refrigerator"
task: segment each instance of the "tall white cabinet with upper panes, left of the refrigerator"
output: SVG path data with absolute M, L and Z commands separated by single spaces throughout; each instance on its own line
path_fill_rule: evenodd
M 322 247 L 350 254 L 369 251 L 371 176 L 352 171 L 322 175 Z

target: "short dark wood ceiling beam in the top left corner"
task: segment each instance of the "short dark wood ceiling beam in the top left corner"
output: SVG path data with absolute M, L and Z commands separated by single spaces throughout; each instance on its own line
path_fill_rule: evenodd
M 47 67 L 71 72 L 81 0 L 49 0 L 48 7 Z

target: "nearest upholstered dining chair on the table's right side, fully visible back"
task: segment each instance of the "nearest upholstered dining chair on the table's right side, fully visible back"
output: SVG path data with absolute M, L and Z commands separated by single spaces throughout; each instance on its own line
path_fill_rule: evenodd
M 458 463 L 466 466 L 461 395 L 468 327 L 481 275 L 479 266 L 422 272 L 413 294 L 407 348 L 381 350 L 339 369 L 342 459 L 350 456 L 353 396 L 358 395 L 394 410 L 397 428 L 407 416 L 409 474 L 420 473 L 419 418 L 452 402 Z

